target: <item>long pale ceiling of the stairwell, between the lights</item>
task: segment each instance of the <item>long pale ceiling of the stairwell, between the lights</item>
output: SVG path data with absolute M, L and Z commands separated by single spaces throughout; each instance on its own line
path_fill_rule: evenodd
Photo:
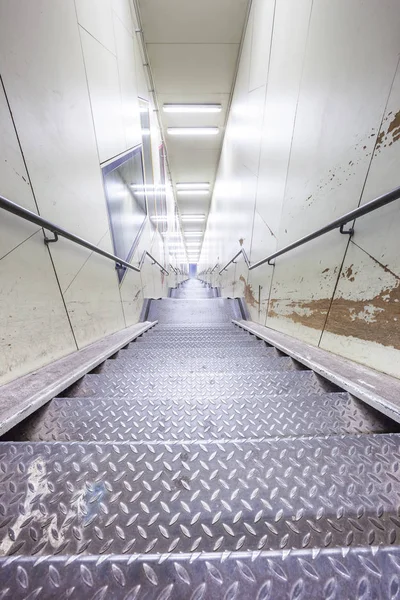
M 182 216 L 207 217 L 248 0 L 138 0 L 174 186 L 210 183 L 178 194 Z M 164 104 L 220 104 L 216 113 L 164 112 Z M 218 127 L 216 135 L 171 135 L 171 127 Z M 186 230 L 203 222 L 184 221 Z

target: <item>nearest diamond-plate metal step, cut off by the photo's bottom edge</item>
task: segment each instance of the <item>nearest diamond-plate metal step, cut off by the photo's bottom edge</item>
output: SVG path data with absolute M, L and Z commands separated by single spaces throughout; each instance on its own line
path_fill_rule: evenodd
M 2 600 L 397 599 L 400 548 L 0 559 Z

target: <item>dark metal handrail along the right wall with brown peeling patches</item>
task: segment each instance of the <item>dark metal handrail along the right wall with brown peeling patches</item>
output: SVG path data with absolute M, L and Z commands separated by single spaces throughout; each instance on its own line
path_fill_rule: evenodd
M 391 192 L 388 192 L 387 194 L 383 194 L 382 196 L 378 196 L 378 198 L 375 198 L 374 200 L 371 200 L 370 202 L 366 202 L 362 206 L 359 206 L 358 208 L 351 210 L 350 212 L 346 213 L 345 215 L 342 215 L 341 217 L 339 217 L 338 219 L 335 219 L 335 221 L 331 221 L 330 223 L 328 223 L 328 225 L 325 225 L 325 227 L 321 227 L 320 229 L 317 229 L 316 231 L 313 231 L 312 233 L 309 233 L 308 235 L 305 235 L 304 237 L 296 240 L 292 244 L 288 244 L 287 246 L 284 246 L 284 248 L 281 248 L 280 250 L 273 252 L 273 254 L 270 254 L 269 256 L 266 256 L 262 260 L 259 260 L 258 262 L 254 263 L 254 265 L 250 264 L 250 261 L 247 257 L 246 252 L 244 251 L 243 248 L 241 248 L 239 250 L 239 252 L 237 254 L 235 254 L 235 256 L 228 263 L 226 263 L 224 268 L 221 269 L 221 271 L 219 271 L 219 274 L 221 275 L 223 273 L 223 271 L 225 271 L 227 269 L 227 267 L 229 267 L 229 265 L 231 263 L 233 263 L 235 261 L 235 259 L 238 258 L 238 256 L 240 256 L 240 254 L 243 254 L 244 260 L 249 268 L 249 271 L 252 271 L 253 269 L 257 269 L 257 267 L 260 267 L 261 265 L 264 265 L 265 263 L 268 263 L 270 265 L 271 264 L 270 261 L 273 260 L 274 258 L 277 258 L 278 256 L 282 256 L 282 254 L 286 254 L 286 252 L 289 252 L 290 250 L 294 250 L 294 248 L 303 246 L 307 242 L 310 242 L 311 240 L 315 240 L 315 238 L 318 238 L 321 235 L 328 233 L 329 231 L 333 231 L 334 229 L 339 229 L 340 233 L 343 233 L 343 234 L 353 235 L 354 224 L 352 227 L 350 227 L 350 229 L 347 229 L 347 230 L 344 229 L 344 225 L 346 225 L 347 223 L 350 223 L 351 221 L 354 221 L 355 219 L 358 219 L 359 217 L 363 217 L 364 215 L 367 215 L 367 214 L 373 212 L 374 210 L 381 208 L 382 206 L 386 206 L 386 204 L 390 204 L 391 202 L 394 202 L 395 200 L 399 200 L 399 198 L 400 198 L 400 187 L 397 187 L 394 190 L 392 190 Z

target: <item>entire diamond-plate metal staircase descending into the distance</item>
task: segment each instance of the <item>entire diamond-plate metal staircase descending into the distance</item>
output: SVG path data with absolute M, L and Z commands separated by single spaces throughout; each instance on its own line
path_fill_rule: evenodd
M 189 280 L 0 443 L 0 599 L 400 597 L 398 425 Z

